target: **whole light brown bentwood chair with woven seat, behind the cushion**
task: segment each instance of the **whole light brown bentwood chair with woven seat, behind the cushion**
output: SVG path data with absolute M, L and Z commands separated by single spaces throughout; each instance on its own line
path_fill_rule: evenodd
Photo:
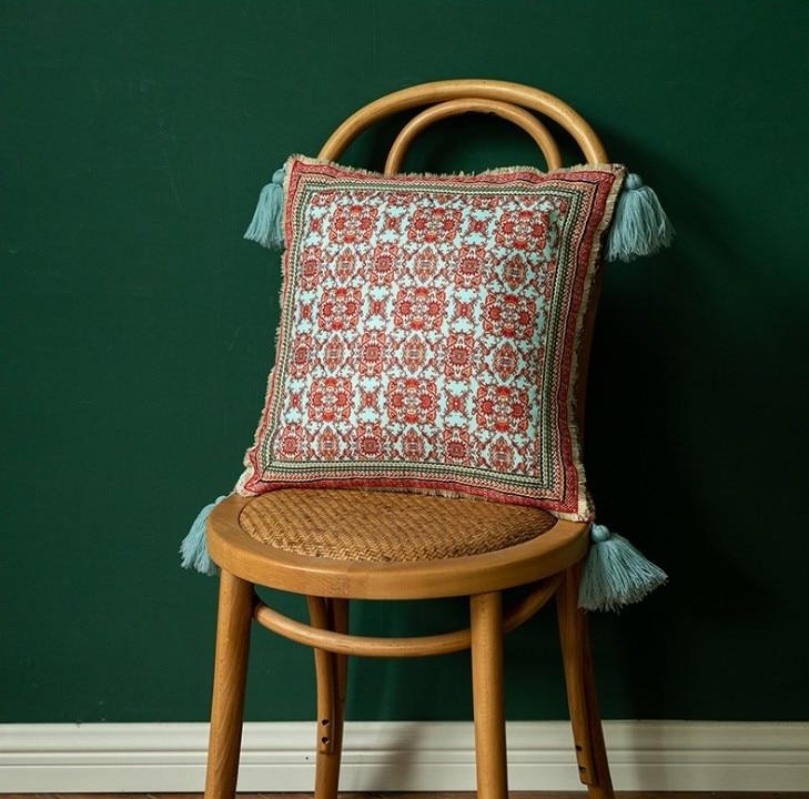
M 594 131 L 567 104 L 525 85 L 484 80 L 434 82 L 383 97 L 343 122 L 320 158 L 336 161 L 370 125 L 413 109 L 425 110 L 396 136 L 385 174 L 401 171 L 408 145 L 422 130 L 467 112 L 496 114 L 524 129 L 549 169 L 562 166 L 559 149 L 537 114 L 565 129 L 587 163 L 607 162 Z M 579 415 L 594 309 L 595 302 L 590 302 L 578 357 Z M 533 537 L 514 544 L 515 530 L 524 530 L 526 525 L 534 530 Z M 457 540 L 468 538 L 473 530 L 485 533 L 475 536 L 484 543 L 472 554 L 458 556 Z M 313 537 L 320 542 L 317 556 L 307 554 Z M 507 795 L 503 636 L 550 599 L 558 614 L 579 777 L 591 799 L 613 797 L 587 615 L 577 607 L 582 562 L 589 546 L 588 524 L 558 520 L 537 508 L 472 498 L 293 488 L 259 497 L 234 495 L 220 503 L 208 523 L 208 546 L 221 577 L 206 799 L 231 799 L 235 791 L 253 621 L 314 649 L 316 799 L 337 796 L 348 656 L 417 657 L 465 648 L 472 650 L 478 796 L 503 799 Z M 267 607 L 254 586 L 305 596 L 310 624 Z M 516 586 L 532 588 L 504 613 L 502 594 Z M 468 597 L 468 629 L 395 639 L 348 631 L 352 599 L 442 597 Z

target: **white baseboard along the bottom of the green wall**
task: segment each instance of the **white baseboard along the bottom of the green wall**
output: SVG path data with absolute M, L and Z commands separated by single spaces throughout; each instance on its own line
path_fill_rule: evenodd
M 613 781 L 633 791 L 809 790 L 809 724 L 607 721 Z M 242 791 L 309 791 L 314 725 L 246 724 Z M 208 725 L 0 725 L 0 792 L 198 792 Z M 580 788 L 563 721 L 508 725 L 514 790 Z M 341 789 L 473 790 L 468 722 L 346 725 Z

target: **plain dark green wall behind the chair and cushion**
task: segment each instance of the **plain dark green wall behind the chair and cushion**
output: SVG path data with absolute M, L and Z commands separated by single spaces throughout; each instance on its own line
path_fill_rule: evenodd
M 2 0 L 0 720 L 206 717 L 216 583 L 175 552 L 263 398 L 257 190 L 371 99 L 454 77 L 570 101 L 678 231 L 609 267 L 594 353 L 600 515 L 671 574 L 594 618 L 605 716 L 806 719 L 808 42 L 803 0 Z M 452 166 L 530 156 L 462 138 Z M 512 718 L 564 716 L 554 636 L 509 638 Z M 360 663 L 350 714 L 467 718 L 466 666 Z M 250 718 L 312 715 L 309 651 L 260 635 L 251 669 Z

